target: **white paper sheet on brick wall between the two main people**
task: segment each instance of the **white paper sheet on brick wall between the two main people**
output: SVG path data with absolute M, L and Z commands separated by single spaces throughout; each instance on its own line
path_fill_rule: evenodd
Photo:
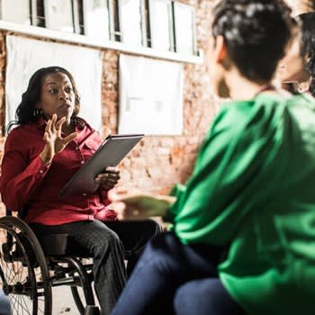
M 119 133 L 180 135 L 183 78 L 180 63 L 121 54 Z

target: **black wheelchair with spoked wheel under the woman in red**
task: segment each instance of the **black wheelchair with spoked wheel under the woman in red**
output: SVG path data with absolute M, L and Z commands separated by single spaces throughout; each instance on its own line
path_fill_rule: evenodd
M 0 288 L 12 314 L 51 315 L 52 288 L 67 285 L 80 314 L 99 313 L 92 282 L 93 264 L 67 234 L 37 238 L 30 226 L 6 211 L 0 218 Z

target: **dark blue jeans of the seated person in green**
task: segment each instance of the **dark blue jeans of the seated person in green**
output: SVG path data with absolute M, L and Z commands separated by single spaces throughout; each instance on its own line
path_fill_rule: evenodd
M 151 239 L 112 315 L 242 314 L 220 283 L 219 254 L 220 248 L 183 245 L 172 232 Z M 194 303 L 197 293 L 210 295 Z M 201 303 L 206 299 L 212 303 Z M 213 299 L 225 305 L 217 307 Z

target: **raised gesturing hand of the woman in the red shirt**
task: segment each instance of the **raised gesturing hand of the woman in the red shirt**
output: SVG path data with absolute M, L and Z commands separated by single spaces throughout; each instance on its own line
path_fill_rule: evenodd
M 53 114 L 51 119 L 47 121 L 43 137 L 45 147 L 40 153 L 40 158 L 45 164 L 50 163 L 58 152 L 61 152 L 70 141 L 77 137 L 77 132 L 72 132 L 65 138 L 61 137 L 61 128 L 65 121 L 66 117 L 62 117 L 57 121 L 56 114 Z

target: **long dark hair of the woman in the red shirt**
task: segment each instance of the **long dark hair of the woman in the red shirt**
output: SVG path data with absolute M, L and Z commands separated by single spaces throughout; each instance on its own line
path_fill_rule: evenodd
M 80 111 L 80 95 L 77 92 L 75 79 L 64 67 L 41 67 L 31 76 L 27 89 L 22 94 L 22 101 L 16 109 L 16 120 L 11 121 L 8 124 L 6 132 L 9 132 L 14 126 L 25 125 L 29 122 L 37 121 L 40 118 L 40 114 L 36 114 L 36 111 L 34 110 L 36 104 L 40 102 L 42 82 L 46 76 L 58 72 L 64 73 L 69 78 L 73 87 L 75 94 L 75 109 L 71 118 L 75 120 Z

